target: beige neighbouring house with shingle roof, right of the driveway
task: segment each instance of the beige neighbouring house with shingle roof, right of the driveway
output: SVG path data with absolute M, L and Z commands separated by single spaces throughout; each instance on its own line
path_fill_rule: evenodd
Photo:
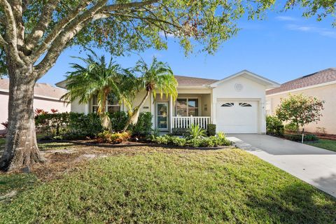
M 267 90 L 267 114 L 274 115 L 281 98 L 288 97 L 289 93 L 302 93 L 324 100 L 325 109 L 322 111 L 321 120 L 307 125 L 304 129 L 308 132 L 316 132 L 317 127 L 322 127 L 328 134 L 336 134 L 336 68 L 302 76 L 283 83 L 280 87 Z

